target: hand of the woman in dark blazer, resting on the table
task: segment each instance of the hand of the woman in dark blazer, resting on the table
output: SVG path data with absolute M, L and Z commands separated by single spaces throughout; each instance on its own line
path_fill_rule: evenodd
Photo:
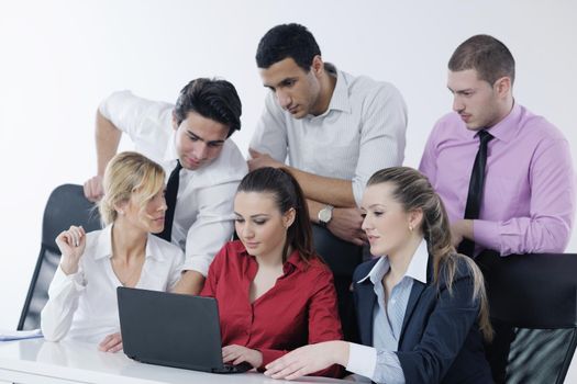
M 304 346 L 267 364 L 265 375 L 273 379 L 295 380 L 324 370 L 333 364 L 346 366 L 348 342 L 325 341 Z

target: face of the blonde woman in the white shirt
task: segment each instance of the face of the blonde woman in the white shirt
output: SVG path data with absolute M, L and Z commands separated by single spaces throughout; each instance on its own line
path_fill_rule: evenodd
M 141 210 L 133 193 L 124 206 L 125 219 L 135 228 L 147 233 L 158 234 L 163 231 L 164 216 L 166 212 L 166 200 L 164 193 L 163 185 L 163 188 L 160 188 L 158 192 L 145 203 L 144 210 Z

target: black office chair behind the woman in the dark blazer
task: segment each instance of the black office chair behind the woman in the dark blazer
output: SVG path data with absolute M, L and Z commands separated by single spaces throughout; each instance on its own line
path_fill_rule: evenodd
M 493 376 L 504 368 L 508 384 L 562 384 L 577 346 L 577 255 L 485 252 L 476 261 L 497 330 Z

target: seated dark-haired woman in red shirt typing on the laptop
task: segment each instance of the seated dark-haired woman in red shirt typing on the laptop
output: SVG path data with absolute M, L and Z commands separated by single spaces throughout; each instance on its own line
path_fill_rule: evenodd
M 275 168 L 248 173 L 234 212 L 240 240 L 217 255 L 201 292 L 219 302 L 224 362 L 262 369 L 295 348 L 341 340 L 333 276 L 314 253 L 307 202 L 292 176 Z

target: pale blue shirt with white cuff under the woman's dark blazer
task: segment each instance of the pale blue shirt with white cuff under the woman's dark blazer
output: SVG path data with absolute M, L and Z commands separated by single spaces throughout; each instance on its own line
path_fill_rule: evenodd
M 387 303 L 385 302 L 382 278 L 389 271 L 390 264 L 386 256 L 381 257 L 370 272 L 358 281 L 360 283 L 370 279 L 377 296 L 373 314 L 373 347 L 351 342 L 347 371 L 370 377 L 376 383 L 404 383 L 404 374 L 395 351 L 399 348 L 404 312 L 413 281 L 426 284 L 428 262 L 426 241 L 422 239 L 404 275 L 392 287 Z

